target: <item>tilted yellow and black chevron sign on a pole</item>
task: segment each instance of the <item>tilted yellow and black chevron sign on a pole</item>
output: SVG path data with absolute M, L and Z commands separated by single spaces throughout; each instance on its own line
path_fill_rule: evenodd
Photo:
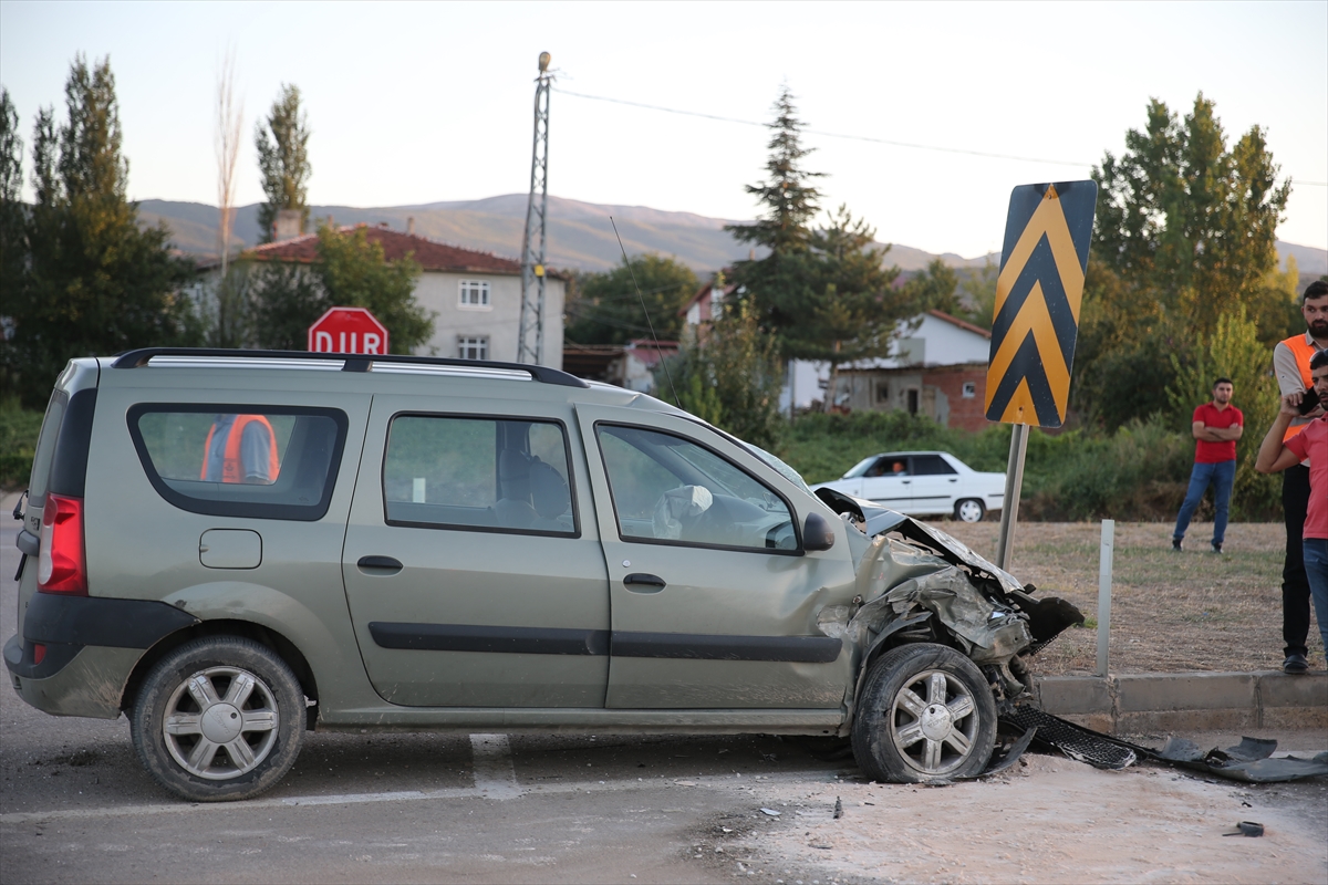
M 1060 427 L 1070 395 L 1097 182 L 1009 195 L 987 366 L 987 419 Z

